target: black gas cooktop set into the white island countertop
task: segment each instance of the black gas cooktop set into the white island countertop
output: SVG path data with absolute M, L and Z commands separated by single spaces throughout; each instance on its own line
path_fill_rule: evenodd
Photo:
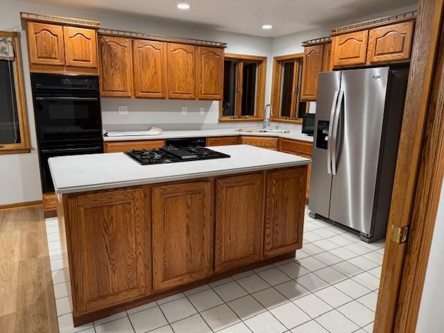
M 163 148 L 153 149 L 151 151 L 127 151 L 126 155 L 130 156 L 142 165 L 212 160 L 214 158 L 230 157 L 230 155 L 219 153 L 219 151 L 212 151 L 208 148 L 192 146 L 164 146 Z

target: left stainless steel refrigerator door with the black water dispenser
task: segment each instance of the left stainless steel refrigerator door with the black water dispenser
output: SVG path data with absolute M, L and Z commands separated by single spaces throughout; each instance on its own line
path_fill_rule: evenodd
M 328 217 L 330 209 L 330 174 L 329 150 L 326 147 L 319 148 L 324 140 L 318 134 L 321 123 L 328 126 L 332 108 L 336 105 L 339 87 L 341 85 L 341 71 L 320 73 L 318 77 L 318 100 L 316 101 L 316 117 L 314 122 L 313 163 L 311 164 L 309 210 Z M 325 130 L 327 130 L 326 128 Z M 325 137 L 328 139 L 328 137 Z M 330 142 L 327 142 L 327 146 Z

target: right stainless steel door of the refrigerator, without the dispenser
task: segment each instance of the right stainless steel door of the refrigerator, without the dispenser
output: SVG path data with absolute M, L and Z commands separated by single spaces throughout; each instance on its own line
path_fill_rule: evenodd
M 343 71 L 332 126 L 329 219 L 370 234 L 388 67 Z

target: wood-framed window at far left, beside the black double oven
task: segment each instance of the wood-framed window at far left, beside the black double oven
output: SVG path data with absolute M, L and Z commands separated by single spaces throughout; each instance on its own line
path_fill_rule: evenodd
M 0 154 L 28 153 L 19 34 L 0 31 Z

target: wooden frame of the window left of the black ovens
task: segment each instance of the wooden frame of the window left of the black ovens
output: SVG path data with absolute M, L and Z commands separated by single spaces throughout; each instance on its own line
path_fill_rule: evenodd
M 12 31 L 0 31 L 3 37 L 12 37 L 12 47 L 14 49 L 13 73 L 15 83 L 15 96 L 17 101 L 17 116 L 19 121 L 19 131 L 21 142 L 19 144 L 1 144 L 0 155 L 30 153 L 28 112 L 26 109 L 26 99 L 24 92 L 22 53 L 20 52 L 20 34 Z

